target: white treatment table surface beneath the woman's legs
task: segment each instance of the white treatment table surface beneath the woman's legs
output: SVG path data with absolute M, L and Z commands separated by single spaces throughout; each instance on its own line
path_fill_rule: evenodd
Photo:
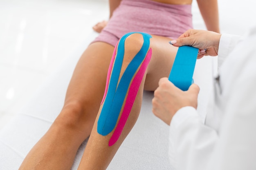
M 63 106 L 72 72 L 88 43 L 97 36 L 92 32 L 52 77 L 40 88 L 30 103 L 0 132 L 0 169 L 16 170 L 29 150 L 48 130 Z M 118 150 L 109 170 L 173 169 L 168 162 L 168 126 L 151 112 L 153 92 L 145 92 L 139 119 Z M 86 141 L 76 155 L 72 169 L 82 157 Z

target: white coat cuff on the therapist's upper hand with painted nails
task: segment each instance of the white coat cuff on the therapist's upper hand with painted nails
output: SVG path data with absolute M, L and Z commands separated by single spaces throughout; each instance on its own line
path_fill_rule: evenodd
M 242 36 L 231 34 L 222 34 L 220 37 L 219 50 L 218 50 L 218 69 L 221 67 L 225 58 L 233 51 L 234 47 L 242 40 Z

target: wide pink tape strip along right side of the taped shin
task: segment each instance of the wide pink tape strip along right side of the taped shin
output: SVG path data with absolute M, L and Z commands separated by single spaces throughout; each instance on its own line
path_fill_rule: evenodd
M 145 74 L 146 68 L 148 67 L 148 63 L 151 59 L 151 55 L 152 55 L 152 49 L 150 48 L 148 51 L 148 54 L 146 55 L 144 62 L 142 63 L 141 67 L 139 68 L 139 71 L 137 72 L 137 74 L 135 75 L 135 77 L 132 81 L 132 84 L 130 85 L 130 89 L 128 92 L 128 96 L 126 98 L 126 103 L 124 105 L 123 113 L 119 119 L 119 122 L 117 124 L 117 127 L 116 127 L 114 133 L 112 134 L 112 136 L 110 138 L 110 141 L 108 143 L 109 146 L 112 146 L 116 143 L 116 141 L 119 139 L 119 136 L 121 135 L 121 132 L 124 129 L 124 125 L 126 124 L 128 116 L 130 114 L 130 111 L 132 110 L 132 105 L 137 96 L 139 86 L 140 86 L 143 76 Z

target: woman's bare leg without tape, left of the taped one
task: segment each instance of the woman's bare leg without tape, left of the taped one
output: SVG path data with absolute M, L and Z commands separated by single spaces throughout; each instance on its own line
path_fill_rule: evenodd
M 103 42 L 95 42 L 85 50 L 74 70 L 61 113 L 31 149 L 20 170 L 70 170 L 99 111 L 113 50 L 112 45 Z

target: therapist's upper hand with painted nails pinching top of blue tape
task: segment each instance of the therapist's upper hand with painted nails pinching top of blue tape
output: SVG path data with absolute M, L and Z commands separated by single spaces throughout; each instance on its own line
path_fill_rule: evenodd
M 196 47 L 199 50 L 198 59 L 203 56 L 217 56 L 219 50 L 221 34 L 213 31 L 189 29 L 173 42 L 173 46 L 180 47 L 189 45 Z M 205 51 L 205 49 L 207 49 Z

